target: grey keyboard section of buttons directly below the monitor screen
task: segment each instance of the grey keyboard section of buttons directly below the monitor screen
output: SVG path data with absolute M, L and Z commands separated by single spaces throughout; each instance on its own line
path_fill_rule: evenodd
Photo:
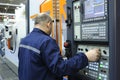
M 108 22 L 85 23 L 82 25 L 83 41 L 108 41 Z

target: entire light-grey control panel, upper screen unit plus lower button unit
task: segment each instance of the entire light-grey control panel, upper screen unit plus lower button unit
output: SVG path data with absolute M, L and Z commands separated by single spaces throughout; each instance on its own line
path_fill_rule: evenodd
M 99 48 L 102 54 L 99 61 L 89 62 L 86 68 L 80 70 L 80 73 L 90 80 L 109 80 L 109 46 L 99 45 L 99 42 L 108 42 L 107 10 L 107 0 L 73 2 L 74 41 L 78 42 L 77 52 L 86 53 L 93 48 Z

